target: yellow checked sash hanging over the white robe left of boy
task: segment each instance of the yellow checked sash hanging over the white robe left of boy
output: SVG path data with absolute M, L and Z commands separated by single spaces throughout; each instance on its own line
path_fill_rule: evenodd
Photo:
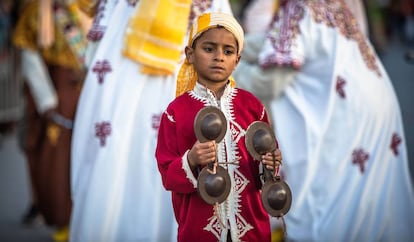
M 187 33 L 191 0 L 142 0 L 125 35 L 123 54 L 142 65 L 141 72 L 173 74 Z

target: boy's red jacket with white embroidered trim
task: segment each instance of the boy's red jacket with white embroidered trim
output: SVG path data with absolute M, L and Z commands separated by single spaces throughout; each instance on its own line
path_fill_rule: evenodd
M 197 172 L 192 172 L 187 152 L 196 142 L 194 119 L 204 106 L 219 107 L 226 116 L 228 130 L 218 144 L 218 159 L 239 160 L 238 165 L 224 166 L 232 189 L 219 206 L 204 202 L 197 192 Z M 245 146 L 245 132 L 254 121 L 268 121 L 262 103 L 251 93 L 227 85 L 220 101 L 211 91 L 196 87 L 170 103 L 164 112 L 158 133 L 156 157 L 164 187 L 172 192 L 177 219 L 178 241 L 270 241 L 269 215 L 260 198 L 259 162 L 253 160 Z M 221 226 L 218 219 L 226 227 Z

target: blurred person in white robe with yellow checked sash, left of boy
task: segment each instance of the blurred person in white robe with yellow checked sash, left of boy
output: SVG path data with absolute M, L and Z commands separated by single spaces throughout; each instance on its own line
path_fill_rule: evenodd
M 71 241 L 176 241 L 155 159 L 192 20 L 228 0 L 79 0 L 94 16 L 72 139 Z

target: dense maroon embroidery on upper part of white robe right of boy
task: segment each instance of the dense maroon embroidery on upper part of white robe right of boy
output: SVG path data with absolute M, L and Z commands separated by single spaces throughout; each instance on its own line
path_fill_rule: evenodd
M 323 2 L 326 2 L 326 4 L 323 4 Z M 357 20 L 342 0 L 283 1 L 281 8 L 284 11 L 279 11 L 275 15 L 272 21 L 274 27 L 267 36 L 275 53 L 263 61 L 263 68 L 275 64 L 290 65 L 294 68 L 301 65 L 298 60 L 291 56 L 291 48 L 294 39 L 300 34 L 299 23 L 304 17 L 305 6 L 309 7 L 315 22 L 337 28 L 345 38 L 357 42 L 367 68 L 381 76 L 373 48 L 368 44 L 365 36 L 360 31 Z M 351 19 L 351 21 L 346 21 L 347 19 Z

